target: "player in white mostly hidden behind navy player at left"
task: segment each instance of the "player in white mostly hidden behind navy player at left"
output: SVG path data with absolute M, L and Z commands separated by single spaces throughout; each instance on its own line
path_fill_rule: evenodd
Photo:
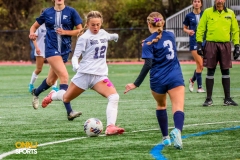
M 41 10 L 40 14 L 42 14 L 43 11 L 44 9 Z M 33 71 L 30 83 L 28 85 L 28 90 L 30 93 L 34 89 L 34 82 L 36 81 L 38 75 L 41 73 L 45 61 L 45 36 L 46 36 L 45 23 L 43 23 L 36 30 L 35 34 L 37 36 L 37 39 L 33 41 L 33 45 L 35 47 L 34 56 L 36 57 L 36 69 Z M 52 86 L 52 89 L 58 91 L 57 81 Z

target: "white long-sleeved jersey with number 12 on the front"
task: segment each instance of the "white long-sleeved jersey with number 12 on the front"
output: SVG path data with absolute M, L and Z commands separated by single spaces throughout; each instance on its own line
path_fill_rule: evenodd
M 73 57 L 82 59 L 79 62 L 79 73 L 94 75 L 108 75 L 106 53 L 109 40 L 118 40 L 118 34 L 110 34 L 100 29 L 97 34 L 92 34 L 88 29 L 81 35 L 76 44 Z

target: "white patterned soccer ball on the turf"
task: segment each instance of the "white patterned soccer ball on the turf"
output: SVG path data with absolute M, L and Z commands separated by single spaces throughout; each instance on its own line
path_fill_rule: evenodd
M 89 137 L 97 137 L 103 131 L 103 124 L 97 118 L 89 118 L 84 123 L 84 131 Z

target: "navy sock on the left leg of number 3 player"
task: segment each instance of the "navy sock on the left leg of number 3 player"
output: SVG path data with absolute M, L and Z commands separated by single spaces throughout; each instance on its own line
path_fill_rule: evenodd
M 156 110 L 156 116 L 163 137 L 168 136 L 168 116 L 167 110 Z

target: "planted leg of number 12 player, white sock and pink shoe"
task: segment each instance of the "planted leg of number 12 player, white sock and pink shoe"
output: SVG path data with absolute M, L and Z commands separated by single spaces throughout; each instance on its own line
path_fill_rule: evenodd
M 93 89 L 108 99 L 108 104 L 106 108 L 107 128 L 105 134 L 106 135 L 123 134 L 123 132 L 125 131 L 124 128 L 116 126 L 119 95 L 114 85 L 109 79 L 104 79 L 96 83 Z

